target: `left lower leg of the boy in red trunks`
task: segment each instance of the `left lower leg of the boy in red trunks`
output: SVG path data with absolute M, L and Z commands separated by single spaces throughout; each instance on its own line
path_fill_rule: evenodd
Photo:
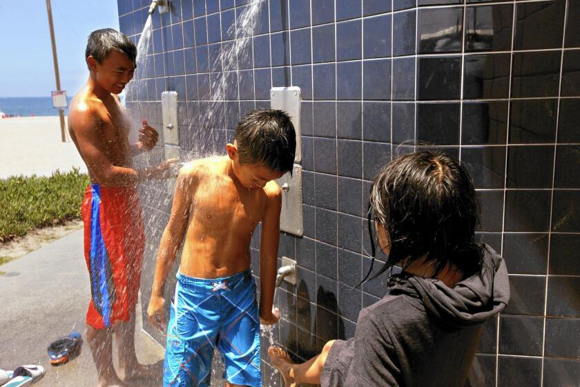
M 90 352 L 93 354 L 93 361 L 97 366 L 99 381 L 98 387 L 126 386 L 113 368 L 113 331 L 110 328 L 95 329 L 87 325 L 86 339 Z

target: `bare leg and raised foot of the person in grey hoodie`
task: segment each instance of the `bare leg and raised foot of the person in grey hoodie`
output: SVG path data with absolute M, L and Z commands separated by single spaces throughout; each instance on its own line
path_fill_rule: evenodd
M 334 341 L 327 342 L 322 348 L 320 355 L 302 364 L 294 364 L 288 353 L 282 348 L 271 346 L 268 348 L 268 355 L 270 355 L 272 366 L 276 367 L 282 374 L 285 387 L 293 387 L 302 383 L 320 384 L 322 368 L 325 366 L 328 353 Z

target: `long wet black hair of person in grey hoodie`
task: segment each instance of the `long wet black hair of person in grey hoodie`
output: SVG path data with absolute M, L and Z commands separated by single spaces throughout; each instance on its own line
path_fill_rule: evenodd
M 378 173 L 369 195 L 374 256 L 371 220 L 385 227 L 389 243 L 387 263 L 375 276 L 394 265 L 404 270 L 423 256 L 433 265 L 434 276 L 447 263 L 456 265 L 464 278 L 481 270 L 483 250 L 474 242 L 475 189 L 463 165 L 449 155 L 417 151 L 395 158 Z

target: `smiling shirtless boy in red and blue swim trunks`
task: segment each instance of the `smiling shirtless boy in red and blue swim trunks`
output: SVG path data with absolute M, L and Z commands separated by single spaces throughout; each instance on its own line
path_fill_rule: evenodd
M 90 177 L 82 202 L 84 252 L 91 300 L 86 337 L 99 375 L 98 386 L 124 386 L 153 370 L 135 357 L 135 304 L 141 278 L 144 233 L 135 187 L 147 178 L 164 178 L 172 162 L 137 170 L 131 156 L 153 149 L 155 129 L 143 122 L 139 142 L 130 144 L 130 122 L 119 103 L 133 78 L 137 48 L 115 30 L 96 30 L 88 38 L 90 75 L 70 105 L 68 129 Z M 112 334 L 117 334 L 118 376 L 113 368 Z

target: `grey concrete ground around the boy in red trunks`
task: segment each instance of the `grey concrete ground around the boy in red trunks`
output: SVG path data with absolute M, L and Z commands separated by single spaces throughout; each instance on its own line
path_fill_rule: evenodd
M 46 375 L 35 384 L 39 387 L 95 386 L 96 370 L 84 336 L 90 287 L 82 230 L 0 268 L 6 273 L 0 276 L 0 368 L 40 364 Z M 63 366 L 50 366 L 46 347 L 72 330 L 83 334 L 81 354 Z M 163 359 L 164 348 L 143 332 L 135 335 L 135 345 L 142 364 Z M 161 382 L 140 380 L 133 385 Z

